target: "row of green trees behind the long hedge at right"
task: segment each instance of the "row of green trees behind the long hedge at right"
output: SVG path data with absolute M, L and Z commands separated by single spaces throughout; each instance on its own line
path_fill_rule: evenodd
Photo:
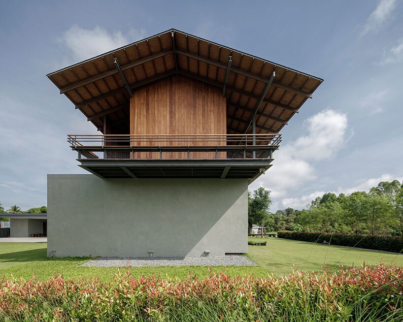
M 369 192 L 325 193 L 304 209 L 270 212 L 270 191 L 249 192 L 248 226 L 268 231 L 296 230 L 372 235 L 403 235 L 403 182 L 383 181 Z

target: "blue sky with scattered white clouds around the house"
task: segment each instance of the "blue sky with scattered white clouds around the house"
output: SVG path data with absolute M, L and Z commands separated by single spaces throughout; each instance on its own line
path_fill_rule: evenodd
M 272 211 L 403 180 L 401 0 L 0 0 L 5 208 L 46 205 L 48 173 L 86 173 L 66 137 L 96 129 L 45 75 L 170 28 L 324 79 L 249 187 Z

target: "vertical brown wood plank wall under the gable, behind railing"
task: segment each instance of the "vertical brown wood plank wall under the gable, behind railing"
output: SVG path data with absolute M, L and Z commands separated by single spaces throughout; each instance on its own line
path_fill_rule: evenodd
M 134 92 L 130 134 L 226 134 L 226 115 L 225 97 L 219 88 L 185 76 L 171 76 Z M 214 153 L 198 154 L 198 158 L 211 158 Z M 141 159 L 159 158 L 155 153 L 143 155 Z M 183 153 L 164 154 L 167 159 L 179 157 L 186 158 Z

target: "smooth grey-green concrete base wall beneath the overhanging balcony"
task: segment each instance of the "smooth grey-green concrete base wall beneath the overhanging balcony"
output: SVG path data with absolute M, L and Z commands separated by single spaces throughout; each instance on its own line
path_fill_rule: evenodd
M 223 256 L 247 252 L 244 179 L 48 175 L 48 253 Z

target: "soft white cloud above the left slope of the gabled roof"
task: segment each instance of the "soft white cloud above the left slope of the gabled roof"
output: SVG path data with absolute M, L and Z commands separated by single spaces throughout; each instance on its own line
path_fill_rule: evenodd
M 140 40 L 144 38 L 144 34 L 143 29 L 131 29 L 123 34 L 120 31 L 108 32 L 99 26 L 83 29 L 72 25 L 59 40 L 66 47 L 70 55 L 69 60 L 78 62 Z

